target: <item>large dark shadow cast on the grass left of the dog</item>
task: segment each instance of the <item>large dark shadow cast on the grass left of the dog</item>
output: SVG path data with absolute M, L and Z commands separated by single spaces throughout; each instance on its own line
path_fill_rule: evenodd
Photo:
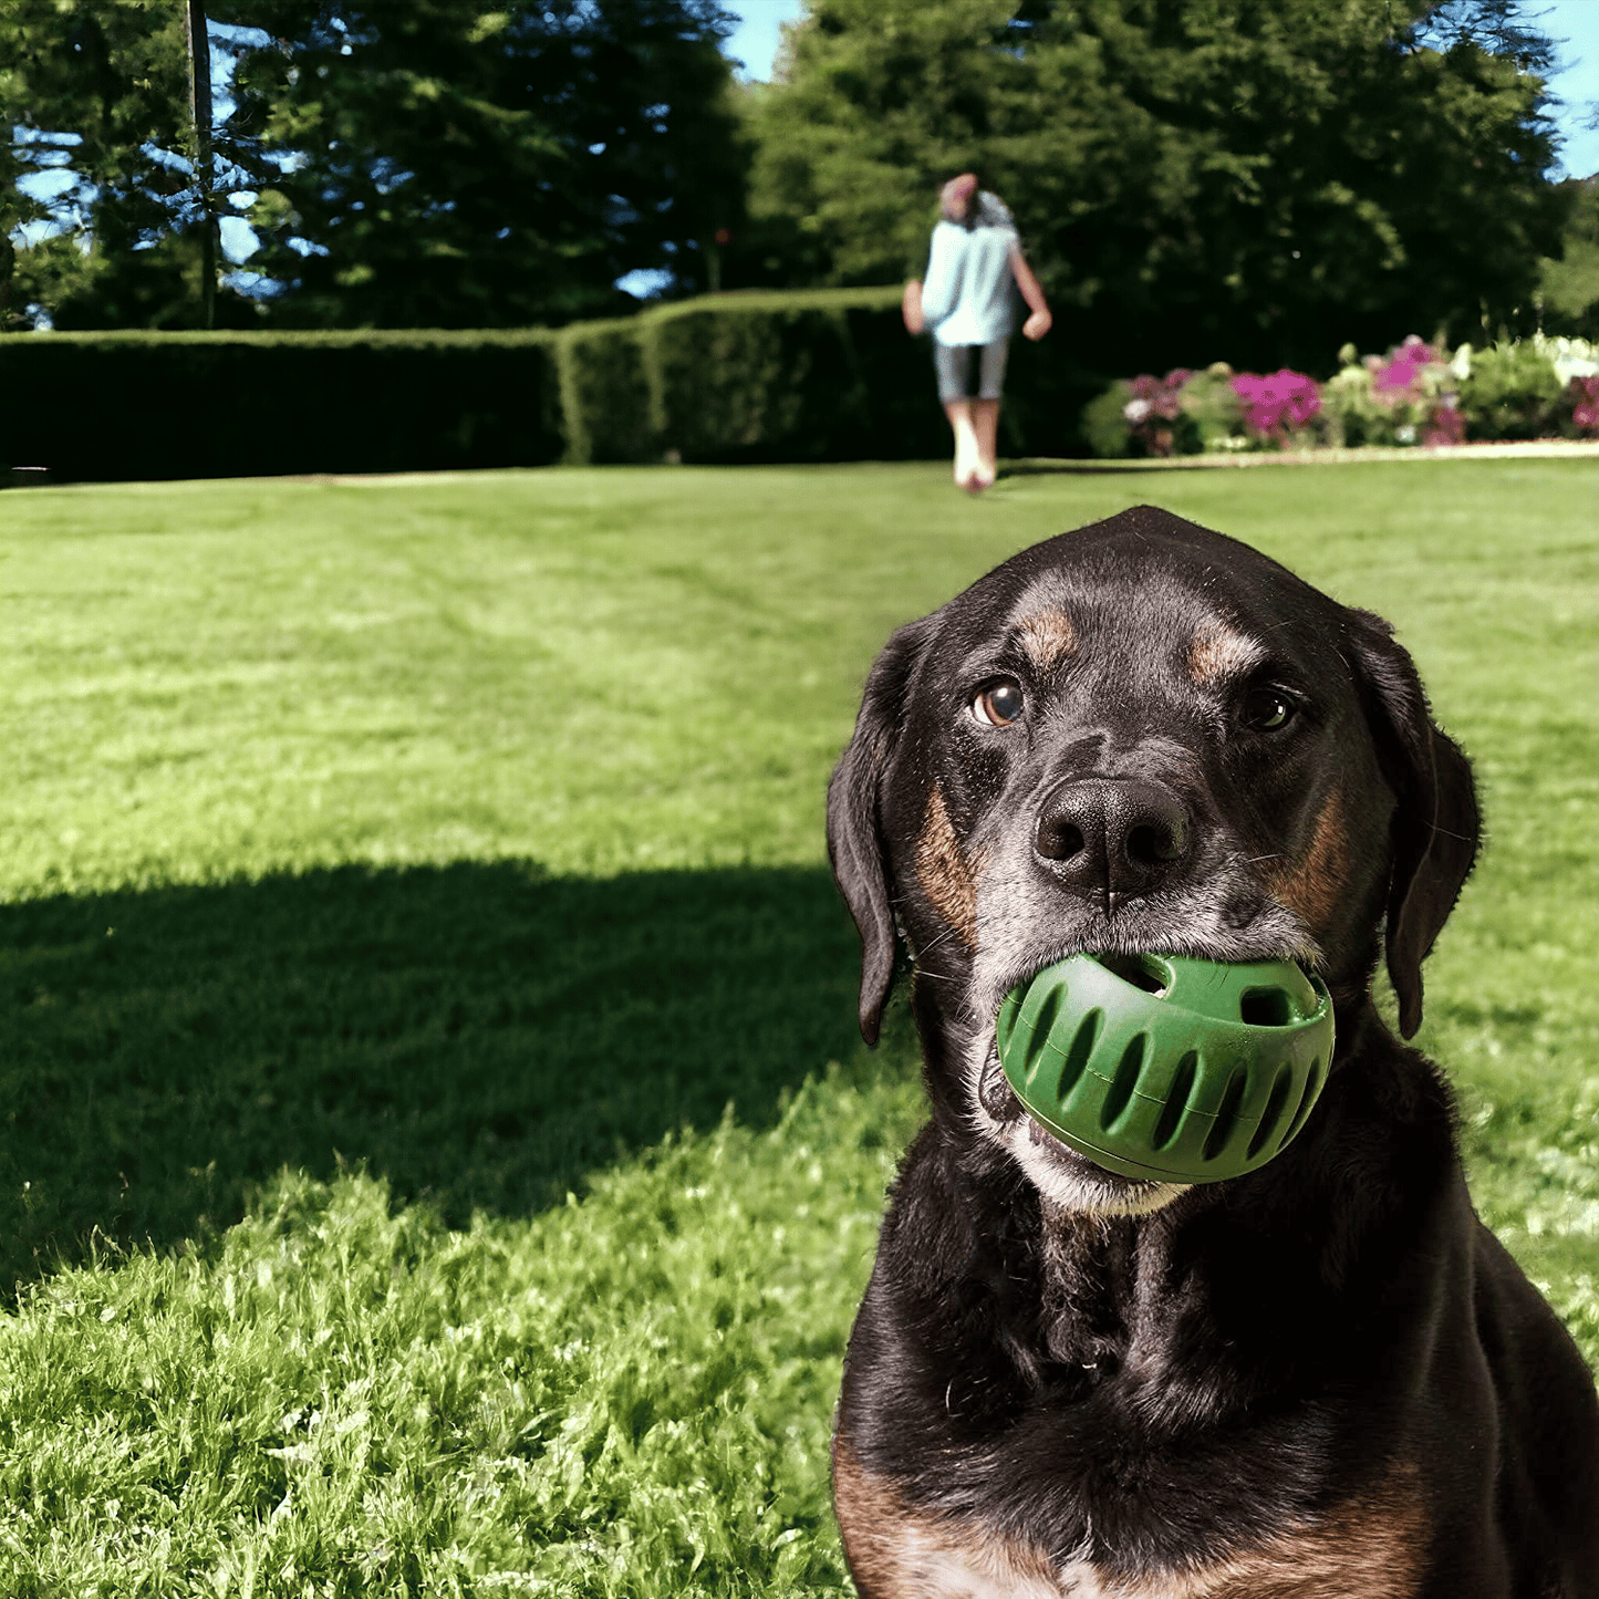
M 684 1122 L 776 1115 L 857 1038 L 812 870 L 341 868 L 0 907 L 0 1284 L 94 1231 L 225 1226 L 365 1161 L 461 1225 Z

